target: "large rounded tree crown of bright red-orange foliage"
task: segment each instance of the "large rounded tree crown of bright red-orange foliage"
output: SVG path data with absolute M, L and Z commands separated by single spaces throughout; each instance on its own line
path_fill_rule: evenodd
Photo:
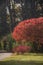
M 43 43 L 43 17 L 20 22 L 13 30 L 12 38 L 16 41 L 28 40 Z

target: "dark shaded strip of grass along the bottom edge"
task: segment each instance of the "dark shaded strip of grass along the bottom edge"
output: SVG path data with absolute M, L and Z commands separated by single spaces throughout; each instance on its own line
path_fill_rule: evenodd
M 2 61 L 0 65 L 43 65 L 43 62 L 37 61 Z

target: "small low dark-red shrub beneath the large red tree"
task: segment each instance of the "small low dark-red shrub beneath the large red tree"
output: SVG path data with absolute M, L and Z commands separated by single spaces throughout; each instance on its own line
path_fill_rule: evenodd
M 25 52 L 30 52 L 30 50 L 31 50 L 30 46 L 17 46 L 17 47 L 12 49 L 12 52 L 25 53 Z

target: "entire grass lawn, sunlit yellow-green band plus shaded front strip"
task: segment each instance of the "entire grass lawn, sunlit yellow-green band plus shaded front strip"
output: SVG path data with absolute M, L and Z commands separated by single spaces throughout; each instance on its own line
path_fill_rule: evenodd
M 43 54 L 12 55 L 0 61 L 0 65 L 43 65 Z

